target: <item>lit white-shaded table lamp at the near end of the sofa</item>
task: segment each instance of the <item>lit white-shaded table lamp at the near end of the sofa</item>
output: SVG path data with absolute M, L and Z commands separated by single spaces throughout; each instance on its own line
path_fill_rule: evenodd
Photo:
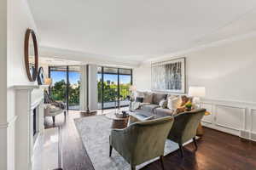
M 193 97 L 195 108 L 200 108 L 200 98 L 206 96 L 206 88 L 204 87 L 189 87 L 189 96 Z

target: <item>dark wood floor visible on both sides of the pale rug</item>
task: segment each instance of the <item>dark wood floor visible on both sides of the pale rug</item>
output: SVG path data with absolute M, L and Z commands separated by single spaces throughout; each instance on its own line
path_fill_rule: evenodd
M 63 169 L 94 170 L 84 149 L 74 118 L 82 117 L 79 111 L 69 111 L 64 116 L 56 116 L 55 126 L 61 126 Z M 53 127 L 52 120 L 45 120 L 45 127 Z M 166 170 L 256 170 L 256 144 L 239 137 L 221 133 L 205 127 L 205 135 L 194 145 L 185 146 L 184 159 L 175 151 L 164 157 Z M 160 161 L 155 161 L 143 170 L 160 170 Z

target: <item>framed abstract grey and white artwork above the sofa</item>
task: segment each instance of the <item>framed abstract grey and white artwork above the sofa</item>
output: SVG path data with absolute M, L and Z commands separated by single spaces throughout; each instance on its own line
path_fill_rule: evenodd
M 185 58 L 151 65 L 152 90 L 185 93 Z

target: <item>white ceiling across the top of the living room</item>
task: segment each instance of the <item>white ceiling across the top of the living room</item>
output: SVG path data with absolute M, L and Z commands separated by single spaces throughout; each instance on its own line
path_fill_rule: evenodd
M 30 0 L 48 55 L 143 62 L 256 31 L 255 0 Z M 68 52 L 68 53 L 66 53 Z M 82 57 L 81 57 L 82 56 Z M 74 57 L 75 58 L 75 57 Z

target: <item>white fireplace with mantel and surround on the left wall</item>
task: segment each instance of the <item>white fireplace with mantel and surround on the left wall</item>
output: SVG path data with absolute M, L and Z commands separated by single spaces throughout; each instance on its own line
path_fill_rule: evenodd
M 48 86 L 15 86 L 15 167 L 32 170 L 33 152 L 38 135 L 44 133 L 44 88 Z

